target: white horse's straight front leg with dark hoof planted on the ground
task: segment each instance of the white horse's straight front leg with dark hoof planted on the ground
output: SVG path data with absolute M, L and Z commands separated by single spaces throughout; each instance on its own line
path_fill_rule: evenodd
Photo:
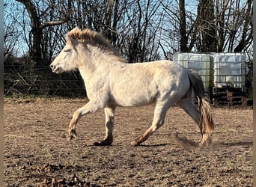
M 115 108 L 104 108 L 106 117 L 106 137 L 103 141 L 95 142 L 96 146 L 110 145 L 113 142 Z

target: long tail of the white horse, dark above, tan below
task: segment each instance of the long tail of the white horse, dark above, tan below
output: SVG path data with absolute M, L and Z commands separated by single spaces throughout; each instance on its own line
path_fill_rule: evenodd
M 201 76 L 192 70 L 188 70 L 189 80 L 192 84 L 195 96 L 198 99 L 198 108 L 200 111 L 199 128 L 202 134 L 210 134 L 214 129 L 213 117 L 210 108 L 210 102 L 204 91 L 204 84 Z

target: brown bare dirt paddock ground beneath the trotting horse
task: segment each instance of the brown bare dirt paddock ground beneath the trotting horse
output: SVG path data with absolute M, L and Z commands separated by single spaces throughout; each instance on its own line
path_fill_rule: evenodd
M 184 147 L 201 135 L 174 106 L 165 125 L 138 147 L 130 141 L 150 126 L 153 105 L 117 108 L 114 143 L 103 110 L 79 121 L 66 142 L 73 111 L 85 99 L 4 99 L 4 186 L 252 186 L 252 108 L 213 108 L 213 147 Z

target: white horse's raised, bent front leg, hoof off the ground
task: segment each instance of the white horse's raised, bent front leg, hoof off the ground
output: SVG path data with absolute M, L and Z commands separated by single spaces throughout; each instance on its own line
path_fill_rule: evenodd
M 100 109 L 100 105 L 98 105 L 97 102 L 90 101 L 86 105 L 84 105 L 83 107 L 79 108 L 74 112 L 73 118 L 70 121 L 70 125 L 68 126 L 68 129 L 67 129 L 67 133 L 68 133 L 67 141 L 70 141 L 76 137 L 76 124 L 78 123 L 80 117 L 90 112 L 97 111 L 98 109 Z

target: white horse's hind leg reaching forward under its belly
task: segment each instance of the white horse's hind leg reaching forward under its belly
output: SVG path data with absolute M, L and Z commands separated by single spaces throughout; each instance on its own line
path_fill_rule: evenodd
M 168 105 L 167 103 L 162 103 L 162 102 L 156 103 L 156 108 L 153 114 L 152 125 L 143 134 L 139 135 L 138 138 L 132 141 L 131 144 L 133 146 L 137 146 L 141 144 L 141 142 L 146 141 L 147 138 L 150 137 L 150 135 L 152 135 L 152 133 L 156 131 L 156 129 L 159 129 L 159 127 L 163 125 L 165 121 L 166 111 L 170 107 L 171 105 Z

